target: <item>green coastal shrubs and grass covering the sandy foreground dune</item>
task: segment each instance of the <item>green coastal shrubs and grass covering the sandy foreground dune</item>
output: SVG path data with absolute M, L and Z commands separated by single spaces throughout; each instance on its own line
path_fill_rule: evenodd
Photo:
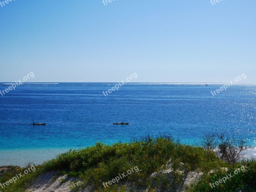
M 37 176 L 56 171 L 58 175 L 78 178 L 71 183 L 72 191 L 254 191 L 256 162 L 254 159 L 242 159 L 246 148 L 244 141 L 225 134 L 206 136 L 201 146 L 183 145 L 165 135 L 113 145 L 97 142 L 92 147 L 70 150 L 35 166 L 35 172 L 0 190 L 25 191 Z M 126 174 L 136 166 L 138 171 Z M 2 167 L 2 170 L 0 183 L 22 172 L 21 168 L 14 166 Z M 239 172 L 233 174 L 236 170 Z M 109 182 L 122 173 L 126 175 L 118 182 Z M 198 173 L 200 177 L 186 185 L 187 176 L 191 173 Z M 210 185 L 230 173 L 233 176 L 225 183 L 215 187 Z M 57 178 L 56 175 L 53 180 Z M 65 183 L 66 180 L 60 182 Z

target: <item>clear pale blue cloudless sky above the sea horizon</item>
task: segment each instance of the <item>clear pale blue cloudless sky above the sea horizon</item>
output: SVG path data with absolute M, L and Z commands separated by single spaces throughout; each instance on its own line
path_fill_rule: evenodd
M 3 1 L 3 0 L 1 0 Z M 106 3 L 105 3 L 106 4 Z M 214 4 L 214 3 L 213 3 Z M 256 82 L 256 1 L 12 0 L 0 82 Z

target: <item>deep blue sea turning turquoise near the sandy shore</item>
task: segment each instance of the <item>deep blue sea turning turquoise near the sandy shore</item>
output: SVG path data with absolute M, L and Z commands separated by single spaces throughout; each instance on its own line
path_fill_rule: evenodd
M 22 84 L 0 95 L 0 166 L 39 164 L 97 141 L 159 133 L 186 144 L 205 133 L 234 133 L 256 147 L 256 84 L 236 84 L 213 97 L 222 84 L 130 83 L 105 97 L 115 84 Z

